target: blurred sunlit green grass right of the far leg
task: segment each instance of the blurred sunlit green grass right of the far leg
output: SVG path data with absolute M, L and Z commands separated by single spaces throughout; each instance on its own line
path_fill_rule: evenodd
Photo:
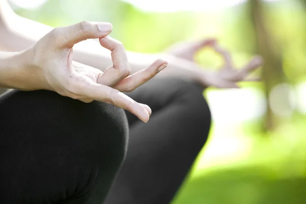
M 306 203 L 305 122 L 296 117 L 253 135 L 215 125 L 172 204 Z

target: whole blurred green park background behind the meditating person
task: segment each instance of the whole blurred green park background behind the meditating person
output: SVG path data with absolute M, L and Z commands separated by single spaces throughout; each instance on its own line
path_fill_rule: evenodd
M 213 127 L 172 204 L 306 203 L 306 1 L 11 0 L 21 16 L 58 27 L 109 21 L 127 50 L 162 52 L 217 37 L 239 67 L 265 59 L 263 82 L 204 92 Z M 196 59 L 217 69 L 219 56 Z

